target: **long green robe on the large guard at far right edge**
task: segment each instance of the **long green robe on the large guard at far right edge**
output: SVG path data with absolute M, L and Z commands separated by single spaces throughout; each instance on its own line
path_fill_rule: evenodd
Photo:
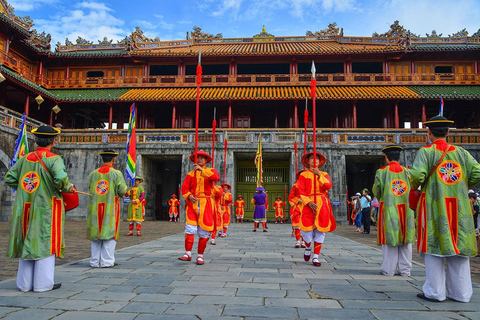
M 411 187 L 422 185 L 440 160 L 443 139 L 421 148 L 410 171 Z M 441 164 L 422 187 L 417 208 L 417 249 L 438 256 L 477 255 L 468 189 L 480 183 L 480 164 L 465 149 L 450 145 Z

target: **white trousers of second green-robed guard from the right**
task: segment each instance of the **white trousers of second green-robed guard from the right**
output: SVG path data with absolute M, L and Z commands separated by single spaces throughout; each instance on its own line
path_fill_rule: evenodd
M 412 270 L 412 244 L 406 243 L 401 246 L 382 245 L 383 264 L 382 274 L 393 276 L 400 274 L 403 277 L 410 276 Z

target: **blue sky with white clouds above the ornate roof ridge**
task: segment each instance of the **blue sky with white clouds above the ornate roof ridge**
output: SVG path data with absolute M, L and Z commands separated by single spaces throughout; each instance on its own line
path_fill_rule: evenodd
M 275 36 L 305 35 L 337 22 L 348 36 L 386 32 L 394 20 L 425 36 L 480 29 L 480 0 L 7 0 L 17 16 L 55 43 L 104 37 L 114 42 L 139 26 L 147 37 L 185 39 L 193 26 L 224 38 L 252 37 L 265 25 Z

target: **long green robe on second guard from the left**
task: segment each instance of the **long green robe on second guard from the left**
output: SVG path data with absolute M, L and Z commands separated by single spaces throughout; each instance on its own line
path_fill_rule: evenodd
M 120 200 L 127 192 L 125 179 L 110 164 L 88 176 L 90 203 L 87 215 L 88 240 L 117 240 L 120 235 Z

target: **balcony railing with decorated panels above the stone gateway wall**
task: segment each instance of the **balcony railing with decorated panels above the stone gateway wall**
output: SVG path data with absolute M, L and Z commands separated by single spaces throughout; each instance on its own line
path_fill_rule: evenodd
M 308 130 L 307 143 L 313 142 L 312 129 Z M 304 143 L 302 129 L 217 129 L 216 141 L 223 143 L 228 140 L 229 145 L 258 143 L 262 134 L 262 143 L 265 146 L 293 145 L 295 142 Z M 100 144 L 126 143 L 127 130 L 63 130 L 60 143 Z M 193 129 L 146 129 L 137 130 L 137 143 L 141 144 L 188 144 L 195 141 Z M 211 129 L 201 129 L 199 142 L 212 141 Z M 460 145 L 480 143 L 480 129 L 452 129 L 448 141 Z M 427 143 L 425 129 L 317 129 L 318 144 L 419 144 Z

